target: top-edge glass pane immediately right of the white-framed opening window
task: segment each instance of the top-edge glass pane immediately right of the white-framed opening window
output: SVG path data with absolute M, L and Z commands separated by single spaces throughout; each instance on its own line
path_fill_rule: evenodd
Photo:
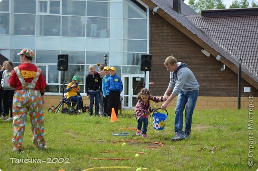
M 75 0 L 63 0 L 63 15 L 80 15 L 85 16 L 86 2 Z

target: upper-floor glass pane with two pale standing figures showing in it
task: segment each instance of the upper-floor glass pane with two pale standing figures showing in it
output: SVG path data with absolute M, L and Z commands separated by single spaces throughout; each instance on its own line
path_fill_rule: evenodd
M 87 17 L 87 37 L 109 37 L 109 18 Z

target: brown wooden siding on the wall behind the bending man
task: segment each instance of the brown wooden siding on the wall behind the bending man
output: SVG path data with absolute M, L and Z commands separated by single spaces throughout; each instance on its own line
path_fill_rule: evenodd
M 230 68 L 221 71 L 222 62 L 206 57 L 201 47 L 158 14 L 150 15 L 150 49 L 152 69 L 149 72 L 150 92 L 163 95 L 169 83 L 169 72 L 164 66 L 166 57 L 173 55 L 187 63 L 200 84 L 199 96 L 235 97 L 238 91 L 238 75 Z M 251 93 L 244 93 L 251 87 Z M 258 96 L 258 90 L 242 79 L 241 95 Z

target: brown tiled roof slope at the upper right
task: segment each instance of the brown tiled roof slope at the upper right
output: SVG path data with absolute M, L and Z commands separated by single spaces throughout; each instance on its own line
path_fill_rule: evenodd
M 242 67 L 258 78 L 258 15 L 200 17 L 188 19 L 230 57 L 242 58 Z M 258 79 L 257 79 L 258 80 Z

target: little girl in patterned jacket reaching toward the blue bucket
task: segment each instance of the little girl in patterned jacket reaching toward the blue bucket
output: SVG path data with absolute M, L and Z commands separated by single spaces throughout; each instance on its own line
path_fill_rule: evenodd
M 154 111 L 153 106 L 150 104 L 150 100 L 153 102 L 163 102 L 162 97 L 151 96 L 148 89 L 143 88 L 137 95 L 137 104 L 134 108 L 134 114 L 136 116 L 137 132 L 136 135 L 140 135 L 141 126 L 143 122 L 143 128 L 141 132 L 142 137 L 147 137 L 147 128 L 148 128 L 148 118 L 149 114 Z

